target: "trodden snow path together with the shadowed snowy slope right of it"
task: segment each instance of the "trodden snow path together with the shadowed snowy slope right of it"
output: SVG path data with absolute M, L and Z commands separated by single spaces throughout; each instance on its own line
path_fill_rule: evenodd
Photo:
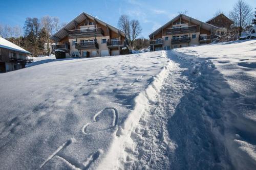
M 139 120 L 114 139 L 99 169 L 253 169 L 255 44 L 167 51 L 160 91 L 137 102 Z

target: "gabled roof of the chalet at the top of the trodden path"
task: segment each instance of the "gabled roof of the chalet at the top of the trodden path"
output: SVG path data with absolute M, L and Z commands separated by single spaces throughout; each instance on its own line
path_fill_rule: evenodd
M 210 29 L 214 29 L 217 30 L 218 27 L 212 26 L 209 23 L 205 23 L 202 22 L 200 20 L 197 20 L 195 18 L 192 18 L 190 16 L 184 15 L 184 14 L 179 14 L 178 16 L 174 17 L 172 20 L 170 20 L 169 22 L 165 23 L 165 25 L 163 25 L 162 27 L 160 27 L 159 29 L 157 29 L 156 31 L 154 31 L 153 33 L 151 33 L 150 35 L 148 35 L 150 38 L 153 37 L 153 34 L 158 34 L 160 31 L 162 31 L 163 28 L 167 27 L 168 25 L 170 25 L 170 23 L 176 21 L 179 18 L 185 19 L 185 20 L 191 20 L 191 22 L 196 23 L 198 25 L 201 25 L 201 28 L 205 29 L 205 30 L 210 30 Z

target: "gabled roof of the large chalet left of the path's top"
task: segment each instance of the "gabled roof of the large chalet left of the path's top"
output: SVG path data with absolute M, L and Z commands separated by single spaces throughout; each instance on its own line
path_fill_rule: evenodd
M 70 21 L 69 23 L 67 23 L 67 25 L 65 25 L 64 27 L 62 27 L 59 31 L 57 31 L 56 33 L 54 33 L 50 39 L 54 40 L 54 41 L 60 41 L 61 39 L 65 38 L 67 36 L 67 31 L 68 30 L 71 30 L 75 27 L 75 24 L 76 23 L 81 23 L 84 19 L 86 18 L 90 18 L 92 20 L 96 20 L 98 23 L 100 23 L 101 25 L 103 26 L 108 26 L 110 30 L 116 32 L 116 33 L 120 33 L 122 36 L 125 37 L 125 34 L 122 30 L 114 27 L 114 26 L 111 26 L 109 25 L 108 23 L 90 15 L 90 14 L 87 14 L 85 12 L 82 12 L 81 14 L 79 14 L 77 17 L 75 17 L 72 21 Z

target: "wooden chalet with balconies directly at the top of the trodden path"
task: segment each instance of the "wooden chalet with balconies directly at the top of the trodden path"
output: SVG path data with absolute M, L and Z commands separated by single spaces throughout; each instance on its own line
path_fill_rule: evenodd
M 218 27 L 180 14 L 149 35 L 151 51 L 210 43 Z

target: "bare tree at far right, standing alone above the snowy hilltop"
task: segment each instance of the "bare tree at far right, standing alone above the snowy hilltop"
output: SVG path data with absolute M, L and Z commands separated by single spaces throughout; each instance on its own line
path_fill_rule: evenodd
M 250 25 L 252 8 L 243 0 L 239 0 L 230 12 L 230 18 L 233 20 L 234 25 L 239 28 L 239 36 L 241 36 L 241 32 Z

